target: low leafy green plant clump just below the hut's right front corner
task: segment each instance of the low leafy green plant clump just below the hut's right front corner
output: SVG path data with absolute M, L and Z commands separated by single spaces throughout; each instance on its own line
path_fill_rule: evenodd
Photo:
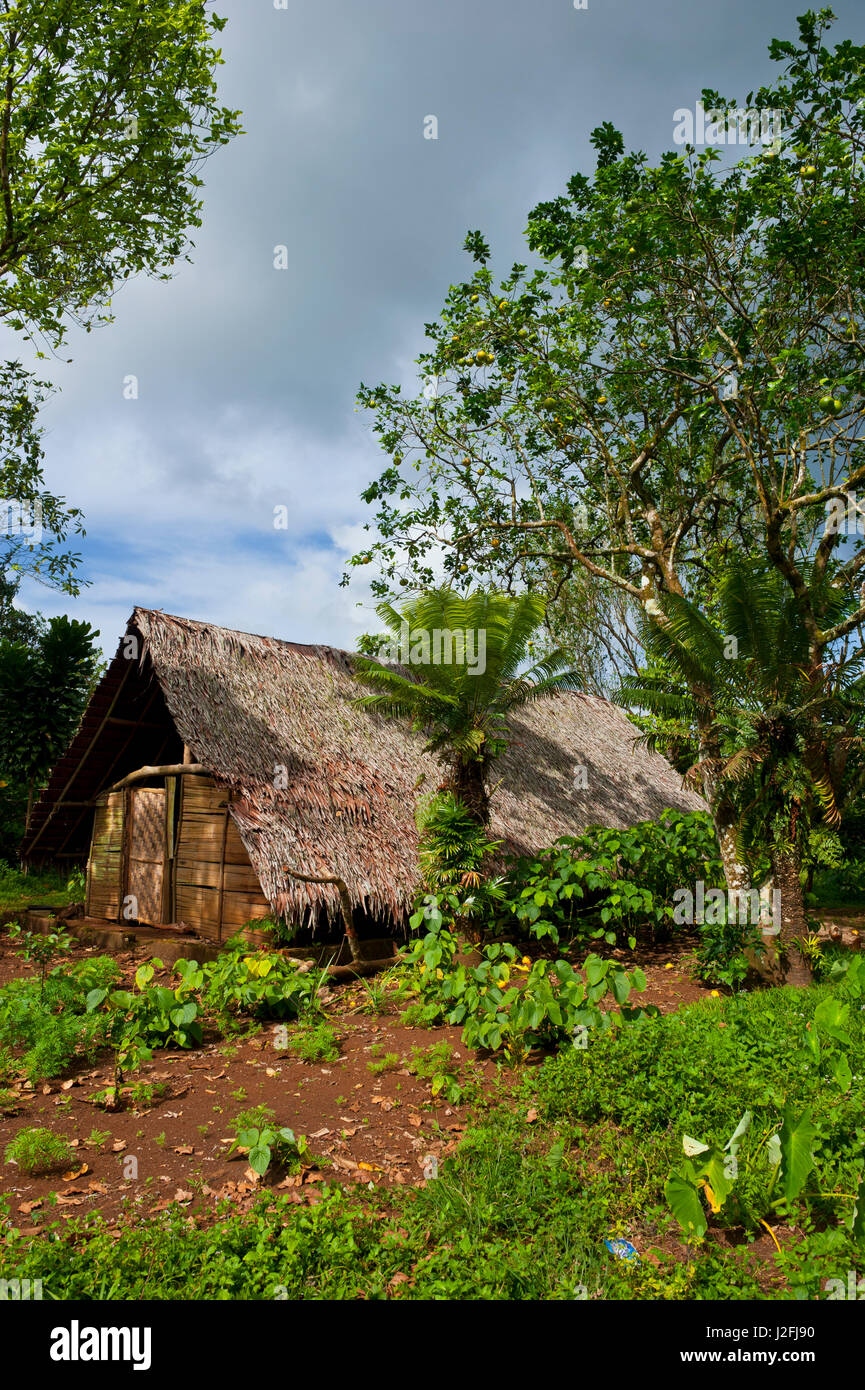
M 300 970 L 286 956 L 253 951 L 232 938 L 216 960 L 203 966 L 204 1006 L 218 1015 L 253 1019 L 295 1019 L 316 1009 L 320 976 Z

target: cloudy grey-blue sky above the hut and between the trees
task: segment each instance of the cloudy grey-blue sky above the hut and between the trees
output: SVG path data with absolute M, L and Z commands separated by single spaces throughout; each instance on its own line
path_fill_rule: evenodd
M 374 630 L 364 585 L 338 587 L 381 460 L 359 382 L 414 379 L 423 324 L 470 272 L 469 228 L 496 268 L 526 259 L 528 210 L 591 172 L 595 125 L 651 158 L 674 147 L 673 111 L 702 88 L 741 101 L 770 79 L 766 46 L 795 38 L 807 3 L 216 8 L 221 97 L 246 133 L 206 165 L 193 264 L 128 284 L 114 324 L 71 335 L 70 364 L 39 364 L 61 388 L 46 478 L 86 513 L 90 587 L 68 599 L 31 582 L 22 598 L 88 619 L 110 653 L 135 605 L 338 646 Z M 864 42 L 862 0 L 833 8 L 830 42 Z

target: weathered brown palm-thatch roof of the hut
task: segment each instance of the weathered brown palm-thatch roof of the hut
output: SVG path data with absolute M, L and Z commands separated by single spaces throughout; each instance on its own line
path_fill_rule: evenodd
M 362 688 L 349 653 L 150 609 L 135 609 L 127 632 L 138 638 L 139 671 L 153 677 L 193 760 L 231 788 L 231 813 L 273 908 L 291 917 L 320 908 L 338 913 L 335 888 L 299 883 L 285 873 L 289 866 L 338 874 L 355 903 L 402 917 L 417 881 L 414 809 L 442 771 L 421 751 L 423 735 L 352 703 Z M 111 682 L 128 673 L 122 653 L 124 642 L 107 688 L 95 695 L 97 712 Z M 139 706 L 147 708 L 142 699 Z M 57 799 L 81 794 L 104 728 L 85 716 L 36 809 L 31 845 Z M 492 834 L 516 852 L 534 852 L 587 824 L 629 826 L 665 806 L 702 806 L 669 763 L 636 749 L 634 738 L 622 710 L 592 695 L 562 694 L 520 712 L 495 764 Z M 574 790 L 577 766 L 585 767 L 585 790 Z M 67 776 L 70 769 L 78 771 Z M 92 774 L 89 795 L 125 770 L 114 759 L 102 785 Z

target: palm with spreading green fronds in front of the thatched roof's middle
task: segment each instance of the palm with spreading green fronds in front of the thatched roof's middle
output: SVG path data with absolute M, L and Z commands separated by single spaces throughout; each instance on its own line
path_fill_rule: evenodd
M 580 688 L 560 651 L 523 669 L 544 621 L 544 600 L 438 588 L 399 606 L 380 603 L 375 612 L 392 634 L 391 655 L 401 667 L 356 657 L 357 678 L 375 691 L 357 703 L 410 719 L 427 735 L 426 752 L 445 764 L 446 790 L 485 826 L 488 774 L 508 746 L 508 716 L 552 691 Z M 438 659 L 435 634 L 456 637 L 449 645 L 439 638 Z M 451 660 L 441 659 L 445 649 Z

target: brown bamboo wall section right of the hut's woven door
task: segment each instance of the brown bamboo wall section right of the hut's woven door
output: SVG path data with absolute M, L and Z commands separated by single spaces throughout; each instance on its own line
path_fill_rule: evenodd
M 228 813 L 228 794 L 210 777 L 178 777 L 174 920 L 225 941 L 270 913 L 259 876 Z

